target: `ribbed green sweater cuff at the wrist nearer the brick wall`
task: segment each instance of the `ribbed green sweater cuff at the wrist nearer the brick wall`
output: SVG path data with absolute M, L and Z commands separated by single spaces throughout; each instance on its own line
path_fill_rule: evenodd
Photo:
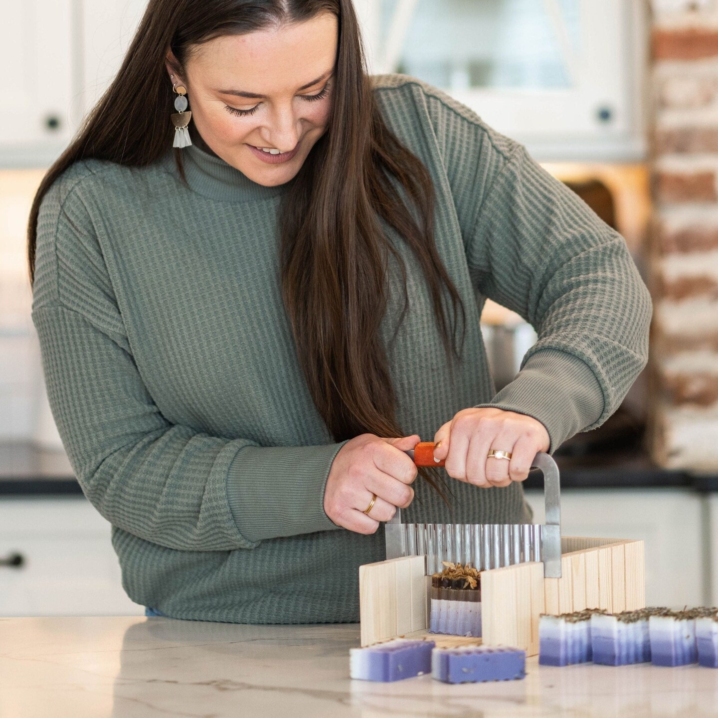
M 546 426 L 553 453 L 563 442 L 603 413 L 603 392 L 588 365 L 567 352 L 542 349 L 532 354 L 516 378 L 488 404 L 492 407 L 533 416 Z

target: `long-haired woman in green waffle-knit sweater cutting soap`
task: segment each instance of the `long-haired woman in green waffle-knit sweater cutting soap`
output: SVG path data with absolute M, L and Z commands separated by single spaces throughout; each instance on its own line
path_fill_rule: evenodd
M 129 596 L 177 618 L 357 620 L 396 506 L 529 521 L 533 455 L 646 360 L 623 238 L 449 95 L 366 75 L 349 0 L 151 0 L 29 263 L 67 454 Z M 495 396 L 485 297 L 539 337 Z M 414 482 L 419 437 L 446 466 Z

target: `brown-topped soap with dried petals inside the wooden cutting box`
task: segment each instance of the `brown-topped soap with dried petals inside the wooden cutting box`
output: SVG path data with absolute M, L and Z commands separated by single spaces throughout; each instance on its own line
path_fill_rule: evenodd
M 429 633 L 481 635 L 480 574 L 470 564 L 442 561 L 444 569 L 432 575 Z

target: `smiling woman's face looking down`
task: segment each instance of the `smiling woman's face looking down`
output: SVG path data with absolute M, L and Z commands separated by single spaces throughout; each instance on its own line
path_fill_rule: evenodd
M 207 148 L 259 185 L 292 180 L 327 127 L 337 30 L 336 16 L 324 13 L 197 45 L 184 75 L 168 64 Z

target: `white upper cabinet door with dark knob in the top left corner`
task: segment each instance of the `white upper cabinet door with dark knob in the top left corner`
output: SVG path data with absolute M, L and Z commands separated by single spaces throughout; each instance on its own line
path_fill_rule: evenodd
M 72 0 L 0 3 L 1 164 L 54 157 L 71 135 Z

